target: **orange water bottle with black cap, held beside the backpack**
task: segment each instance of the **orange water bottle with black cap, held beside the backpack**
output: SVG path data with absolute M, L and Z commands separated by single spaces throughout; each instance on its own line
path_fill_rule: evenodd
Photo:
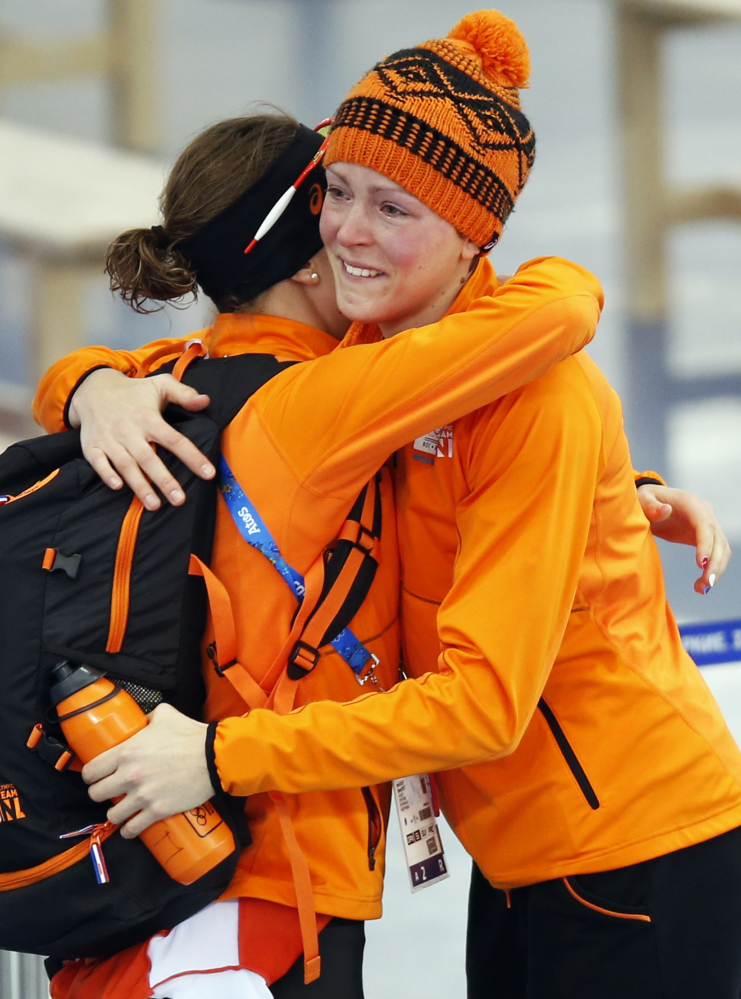
M 88 763 L 147 727 L 133 697 L 92 666 L 59 663 L 49 691 L 70 749 Z M 120 800 L 120 799 L 118 799 Z M 175 881 L 189 885 L 235 849 L 234 837 L 210 801 L 161 819 L 140 834 Z

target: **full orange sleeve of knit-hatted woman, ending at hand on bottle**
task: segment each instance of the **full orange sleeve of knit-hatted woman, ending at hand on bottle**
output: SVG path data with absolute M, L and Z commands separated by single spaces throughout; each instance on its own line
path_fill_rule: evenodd
M 604 464 L 601 421 L 580 377 L 557 369 L 471 417 L 439 672 L 346 704 L 220 722 L 215 760 L 228 792 L 359 787 L 517 746 L 568 622 Z

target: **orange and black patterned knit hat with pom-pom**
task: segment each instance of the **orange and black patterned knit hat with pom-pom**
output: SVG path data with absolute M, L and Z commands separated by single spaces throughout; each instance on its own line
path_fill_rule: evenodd
M 535 158 L 518 93 L 529 74 L 514 21 L 467 14 L 447 38 L 395 52 L 363 77 L 337 112 L 325 166 L 377 170 L 490 250 Z

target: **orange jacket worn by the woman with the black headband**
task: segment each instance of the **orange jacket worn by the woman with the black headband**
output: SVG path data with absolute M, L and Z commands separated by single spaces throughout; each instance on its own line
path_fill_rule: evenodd
M 487 273 L 489 292 L 466 316 L 451 315 L 393 340 L 317 360 L 310 358 L 328 353 L 336 341 L 284 319 L 224 315 L 201 334 L 214 356 L 253 351 L 306 362 L 256 392 L 222 439 L 236 478 L 283 556 L 302 574 L 336 537 L 360 489 L 392 451 L 537 377 L 593 336 L 601 291 L 577 265 L 555 258 L 532 261 L 498 291 L 488 264 Z M 37 419 L 48 430 L 61 429 L 67 397 L 85 371 L 106 365 L 133 373 L 160 346 L 132 353 L 95 347 L 63 359 L 41 382 Z M 391 686 L 398 678 L 398 561 L 387 472 L 383 500 L 381 568 L 352 629 L 378 655 L 379 678 Z M 232 600 L 240 662 L 259 681 L 288 633 L 294 598 L 270 563 L 243 541 L 223 504 L 212 568 Z M 241 715 L 244 705 L 228 680 L 211 668 L 205 675 L 206 718 Z M 297 704 L 347 701 L 359 690 L 349 667 L 329 648 L 300 681 Z M 380 826 L 369 824 L 373 816 L 358 790 L 365 783 L 290 799 L 318 912 L 352 919 L 381 914 L 382 862 L 370 870 L 368 856 L 369 836 L 372 846 Z M 385 808 L 385 796 L 379 803 Z M 295 904 L 283 837 L 267 794 L 251 792 L 247 817 L 253 845 L 225 897 Z M 379 858 L 382 847 L 381 842 Z

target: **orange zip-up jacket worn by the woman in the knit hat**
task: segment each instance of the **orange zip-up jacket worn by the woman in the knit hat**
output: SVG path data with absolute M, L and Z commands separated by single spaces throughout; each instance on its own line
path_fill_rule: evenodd
M 469 281 L 462 321 L 493 280 L 480 268 Z M 414 679 L 223 721 L 224 787 L 297 793 L 443 771 L 449 821 L 503 888 L 741 824 L 741 753 L 682 648 L 620 402 L 597 367 L 569 358 L 433 436 L 432 453 L 428 434 L 397 469 Z

